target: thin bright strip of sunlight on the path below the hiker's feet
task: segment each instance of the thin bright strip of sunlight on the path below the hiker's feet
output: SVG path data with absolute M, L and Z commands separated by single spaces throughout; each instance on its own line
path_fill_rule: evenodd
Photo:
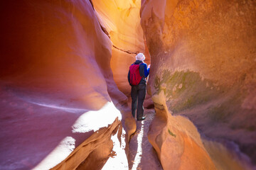
M 137 170 L 137 167 L 142 160 L 142 138 L 143 138 L 143 135 L 144 135 L 144 121 L 142 121 L 142 128 L 137 137 L 138 149 L 137 149 L 137 154 L 134 158 L 134 164 L 132 166 L 132 170 Z

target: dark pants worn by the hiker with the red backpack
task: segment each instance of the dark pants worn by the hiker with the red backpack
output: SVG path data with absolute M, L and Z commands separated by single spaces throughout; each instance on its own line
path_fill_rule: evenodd
M 146 96 L 146 84 L 139 84 L 137 86 L 132 86 L 131 91 L 132 96 L 132 116 L 135 118 L 135 111 L 137 109 L 137 119 L 142 118 L 144 113 L 143 102 Z

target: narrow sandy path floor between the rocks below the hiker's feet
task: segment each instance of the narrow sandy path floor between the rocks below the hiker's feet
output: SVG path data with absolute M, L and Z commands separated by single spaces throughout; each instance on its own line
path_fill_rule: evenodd
M 154 109 L 145 109 L 146 119 L 137 122 L 137 131 L 129 141 L 129 169 L 132 170 L 161 170 L 161 164 L 157 158 L 156 151 L 149 143 L 147 132 L 149 125 L 154 119 Z

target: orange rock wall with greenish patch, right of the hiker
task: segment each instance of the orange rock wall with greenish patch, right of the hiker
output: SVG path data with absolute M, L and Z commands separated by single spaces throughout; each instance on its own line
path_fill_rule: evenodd
M 149 0 L 141 16 L 156 108 L 148 135 L 164 169 L 252 169 L 255 1 Z

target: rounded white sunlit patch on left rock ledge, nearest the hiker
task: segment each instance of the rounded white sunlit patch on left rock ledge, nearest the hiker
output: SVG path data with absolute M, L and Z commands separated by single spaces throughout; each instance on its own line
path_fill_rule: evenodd
M 80 115 L 73 125 L 72 132 L 95 132 L 112 124 L 117 117 L 122 119 L 120 111 L 112 102 L 107 102 L 99 111 L 88 111 Z

